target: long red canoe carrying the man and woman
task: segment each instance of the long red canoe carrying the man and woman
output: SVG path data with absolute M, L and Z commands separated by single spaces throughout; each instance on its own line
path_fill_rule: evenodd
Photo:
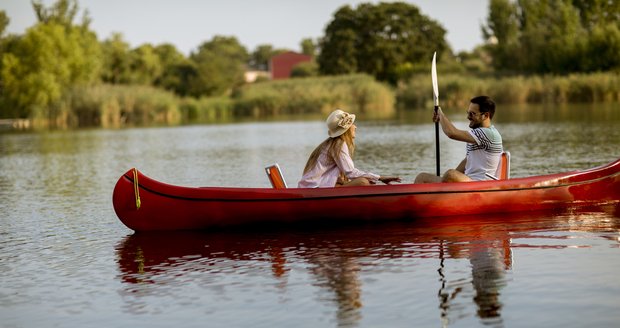
M 320 189 L 182 187 L 131 169 L 116 183 L 112 201 L 120 220 L 135 231 L 538 211 L 620 204 L 620 159 L 508 180 Z

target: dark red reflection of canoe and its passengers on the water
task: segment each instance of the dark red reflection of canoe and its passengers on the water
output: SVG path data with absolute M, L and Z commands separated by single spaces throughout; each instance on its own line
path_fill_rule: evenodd
M 175 286 L 187 283 L 207 289 L 219 284 L 220 288 L 228 288 L 220 289 L 225 294 L 234 287 L 222 287 L 230 280 L 222 281 L 224 278 L 220 277 L 243 275 L 242 280 L 254 281 L 253 286 L 268 281 L 268 288 L 273 286 L 281 293 L 287 288 L 316 288 L 318 293 L 312 292 L 315 299 L 308 302 L 327 304 L 335 312 L 335 318 L 330 320 L 336 320 L 338 325 L 355 325 L 362 318 L 364 300 L 367 303 L 370 300 L 375 307 L 389 306 L 373 299 L 379 297 L 380 292 L 376 290 L 374 295 L 362 295 L 367 290 L 364 284 L 375 283 L 394 272 L 400 274 L 399 279 L 408 274 L 417 276 L 420 273 L 416 270 L 432 262 L 434 272 L 422 275 L 435 277 L 432 281 L 438 289 L 438 316 L 444 326 L 471 317 L 501 326 L 502 288 L 510 283 L 512 250 L 569 247 L 565 240 L 570 237 L 544 236 L 548 243 L 545 245 L 518 244 L 513 240 L 536 238 L 539 241 L 541 231 L 600 231 L 601 225 L 620 231 L 619 220 L 600 220 L 601 215 L 620 217 L 618 206 L 578 211 L 330 228 L 289 227 L 275 231 L 136 233 L 117 246 L 119 277 L 124 283 L 121 293 L 130 296 L 129 303 L 134 302 L 128 304 L 127 311 L 140 312 L 144 311 L 141 297 L 161 296 L 165 290 L 174 293 Z M 403 267 L 402 263 L 410 263 L 402 261 L 405 259 L 426 264 Z M 465 269 L 471 270 L 465 277 L 464 259 L 469 263 Z M 300 275 L 307 275 L 314 287 L 300 286 Z M 295 281 L 290 282 L 293 276 Z M 252 286 L 233 292 L 235 295 L 219 296 L 230 299 L 251 289 Z M 410 309 L 416 304 L 428 304 L 428 295 L 415 295 L 406 289 L 397 292 L 403 295 L 396 298 L 410 302 Z M 414 300 L 416 297 L 427 299 Z M 285 301 L 279 302 L 274 302 L 272 307 L 280 308 Z

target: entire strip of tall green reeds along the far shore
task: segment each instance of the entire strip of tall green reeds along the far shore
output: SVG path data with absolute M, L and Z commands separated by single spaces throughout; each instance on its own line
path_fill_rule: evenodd
M 231 97 L 181 98 L 147 86 L 74 87 L 51 108 L 32 109 L 30 128 L 122 127 L 217 123 L 239 119 L 325 116 L 342 108 L 368 118 L 393 117 L 405 110 L 432 106 L 428 74 L 415 76 L 395 90 L 367 75 L 266 81 L 248 84 Z M 440 74 L 440 103 L 464 107 L 475 95 L 498 103 L 619 102 L 620 74 L 570 76 L 471 77 Z M 5 117 L 12 119 L 12 117 Z

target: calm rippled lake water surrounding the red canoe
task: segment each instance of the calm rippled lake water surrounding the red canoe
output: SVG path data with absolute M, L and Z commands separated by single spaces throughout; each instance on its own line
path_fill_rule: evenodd
M 465 109 L 449 111 L 465 128 Z M 431 114 L 358 117 L 356 165 L 434 172 Z M 620 106 L 499 107 L 512 176 L 620 157 Z M 259 231 L 134 234 L 126 170 L 295 185 L 320 121 L 0 134 L 1 327 L 617 327 L 620 208 Z M 441 139 L 442 170 L 464 145 Z M 346 204 L 343 204 L 346 208 Z

